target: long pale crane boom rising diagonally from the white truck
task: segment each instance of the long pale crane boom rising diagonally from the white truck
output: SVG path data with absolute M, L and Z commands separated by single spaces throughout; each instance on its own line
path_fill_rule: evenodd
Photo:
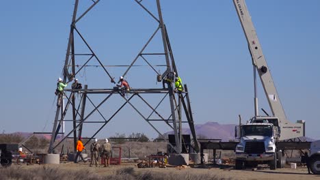
M 263 55 L 263 50 L 258 40 L 258 36 L 256 35 L 256 29 L 252 23 L 245 0 L 233 0 L 233 3 L 235 4 L 235 9 L 248 42 L 250 54 L 252 56 L 252 64 L 256 67 L 258 75 L 260 76 L 272 115 L 279 119 L 281 130 L 279 139 L 284 140 L 304 136 L 304 123 L 291 123 L 286 119 L 284 109 L 282 108 L 276 86 L 274 85 L 274 80 L 272 80 L 267 61 Z

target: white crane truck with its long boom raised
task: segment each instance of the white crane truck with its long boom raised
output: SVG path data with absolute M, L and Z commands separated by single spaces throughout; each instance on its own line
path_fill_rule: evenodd
M 248 48 L 254 66 L 254 104 L 255 116 L 247 124 L 236 127 L 236 137 L 240 139 L 235 147 L 235 168 L 256 166 L 257 164 L 269 164 L 270 169 L 284 168 L 286 157 L 283 147 L 279 142 L 291 138 L 299 138 L 305 135 L 305 123 L 303 120 L 291 123 L 286 119 L 280 98 L 272 80 L 267 61 L 263 55 L 261 44 L 258 41 L 256 30 L 245 5 L 245 0 L 233 0 L 239 16 L 242 29 L 248 42 Z M 265 95 L 269 102 L 272 115 L 258 115 L 258 99 L 256 97 L 256 72 L 261 79 Z M 266 113 L 267 114 L 267 113 Z M 308 157 L 310 170 L 320 174 L 320 140 L 312 142 Z

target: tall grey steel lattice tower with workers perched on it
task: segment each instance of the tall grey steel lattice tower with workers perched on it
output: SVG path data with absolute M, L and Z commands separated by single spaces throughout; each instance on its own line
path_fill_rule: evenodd
M 101 59 L 98 58 L 96 53 L 94 52 L 92 46 L 88 44 L 88 42 L 85 40 L 83 35 L 80 33 L 80 30 L 77 29 L 77 23 L 79 20 L 83 18 L 94 6 L 98 4 L 100 0 L 92 0 L 92 5 L 88 7 L 83 14 L 77 14 L 78 7 L 79 7 L 79 0 L 75 0 L 75 7 L 73 10 L 73 16 L 72 16 L 72 23 L 70 25 L 70 35 L 68 39 L 68 48 L 66 50 L 66 59 L 64 61 L 64 68 L 63 68 L 63 80 L 64 82 L 70 82 L 73 78 L 77 77 L 84 67 L 88 65 L 90 61 L 95 61 L 98 63 L 99 67 L 103 69 L 103 72 L 105 72 L 105 75 L 110 79 L 111 83 L 116 83 L 114 78 L 111 76 L 111 73 L 107 70 L 108 66 L 101 61 Z M 160 88 L 150 88 L 150 89 L 131 89 L 128 92 L 128 95 L 126 97 L 122 97 L 118 91 L 115 89 L 90 89 L 88 88 L 88 85 L 84 85 L 83 89 L 64 89 L 64 95 L 58 95 L 58 102 L 57 102 L 57 110 L 55 114 L 55 121 L 53 123 L 53 131 L 51 136 L 51 142 L 49 147 L 49 153 L 53 153 L 53 150 L 55 150 L 59 145 L 62 145 L 64 140 L 68 138 L 69 136 L 72 137 L 74 140 L 74 145 L 76 148 L 76 142 L 77 137 L 81 136 L 83 129 L 85 129 L 86 123 L 97 123 L 101 124 L 101 126 L 96 130 L 94 134 L 90 137 L 90 139 L 94 138 L 98 132 L 101 132 L 103 130 L 103 127 L 111 121 L 115 117 L 115 115 L 122 110 L 122 108 L 126 105 L 129 105 L 135 110 L 141 117 L 144 119 L 160 136 L 163 137 L 163 133 L 159 132 L 157 128 L 152 124 L 154 121 L 162 121 L 165 124 L 167 124 L 169 127 L 172 128 L 174 132 L 174 138 L 176 144 L 170 144 L 168 140 L 168 145 L 174 149 L 176 153 L 181 153 L 182 151 L 182 123 L 188 123 L 189 128 L 191 130 L 191 135 L 194 140 L 194 150 L 196 152 L 199 151 L 198 147 L 198 141 L 196 138 L 196 132 L 194 130 L 194 119 L 192 117 L 191 112 L 191 105 L 189 101 L 189 93 L 187 91 L 187 85 L 184 85 L 184 91 L 183 93 L 175 93 L 174 92 L 174 74 L 178 76 L 178 70 L 176 68 L 176 64 L 174 62 L 174 56 L 172 53 L 172 48 L 170 46 L 170 40 L 168 37 L 168 32 L 165 28 L 165 24 L 163 23 L 162 13 L 161 13 L 161 6 L 160 1 L 155 0 L 155 3 L 157 4 L 157 13 L 158 17 L 152 14 L 143 4 L 142 0 L 133 0 L 137 5 L 142 7 L 142 10 L 144 10 L 148 15 L 150 15 L 157 23 L 159 23 L 159 26 L 155 30 L 155 32 L 151 35 L 151 37 L 148 39 L 146 44 L 144 44 L 142 50 L 139 51 L 137 56 L 133 59 L 132 63 L 130 65 L 127 65 L 126 71 L 123 73 L 122 76 L 126 76 L 126 74 L 131 70 L 131 67 L 135 65 L 135 62 L 137 59 L 142 59 L 145 61 L 148 66 L 157 74 L 157 80 L 158 82 L 161 82 L 165 79 L 167 79 L 168 83 L 163 83 Z M 159 32 L 160 31 L 160 32 Z M 161 33 L 162 37 L 162 43 L 163 43 L 163 52 L 145 52 L 146 47 L 150 43 L 153 37 L 157 33 Z M 76 53 L 75 52 L 75 38 L 76 36 L 80 37 L 79 40 L 82 41 L 86 48 L 90 50 L 90 53 Z M 165 72 L 160 74 L 155 70 L 155 66 L 148 61 L 148 56 L 157 55 L 163 57 L 163 61 L 165 62 Z M 88 59 L 83 63 L 83 61 L 79 62 L 78 57 L 88 57 Z M 79 65 L 78 63 L 83 63 Z M 160 83 L 162 84 L 162 83 Z M 76 100 L 76 94 L 80 94 L 80 99 Z M 152 106 L 144 97 L 145 94 L 151 94 L 151 95 L 163 95 L 160 102 L 157 104 L 157 106 Z M 94 104 L 92 102 L 92 99 L 90 96 L 92 95 L 105 95 L 106 97 L 101 98 L 101 102 L 98 104 Z M 103 115 L 103 112 L 99 110 L 99 108 L 106 104 L 109 100 L 109 97 L 116 96 L 120 99 L 124 99 L 125 102 L 116 110 L 115 112 L 111 113 L 111 116 L 107 119 Z M 64 104 L 62 101 L 62 98 L 66 98 L 66 103 Z M 144 112 L 141 110 L 138 110 L 134 104 L 131 103 L 131 100 L 133 100 L 133 97 L 138 98 L 139 100 L 142 100 L 146 106 L 152 110 L 150 115 L 144 115 Z M 165 118 L 164 115 L 161 115 L 161 113 L 158 112 L 157 108 L 160 104 L 164 103 L 164 100 L 169 100 L 170 103 L 170 116 L 168 118 Z M 94 106 L 93 110 L 90 110 L 90 112 L 85 112 L 85 108 L 90 104 L 91 106 Z M 92 114 L 94 112 L 98 112 L 98 114 L 103 118 L 104 121 L 90 121 L 90 117 L 92 117 Z M 66 115 L 70 114 L 70 117 L 72 119 L 65 119 Z M 157 115 L 159 119 L 151 119 L 150 117 L 152 115 Z M 183 121 L 183 117 L 187 119 L 187 121 Z M 62 127 L 63 122 L 72 122 L 72 130 L 70 132 L 66 132 L 66 135 L 61 139 L 57 140 L 57 134 L 59 134 L 60 128 Z M 78 133 L 77 133 L 78 132 Z M 163 137 L 166 139 L 165 137 Z M 88 141 L 89 142 L 89 141 Z M 86 142 L 85 145 L 88 143 Z

